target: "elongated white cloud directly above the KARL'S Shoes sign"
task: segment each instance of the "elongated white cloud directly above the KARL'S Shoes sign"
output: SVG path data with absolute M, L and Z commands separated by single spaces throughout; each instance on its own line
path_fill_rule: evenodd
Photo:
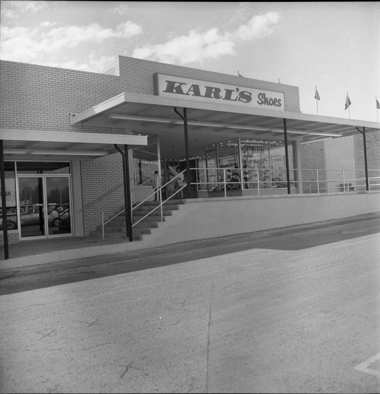
M 163 44 L 144 45 L 136 48 L 132 57 L 164 63 L 188 65 L 234 55 L 235 46 L 242 41 L 253 41 L 273 34 L 281 16 L 278 12 L 254 15 L 248 23 L 232 32 L 219 33 L 217 28 L 205 32 L 191 30 L 187 35 L 173 37 Z

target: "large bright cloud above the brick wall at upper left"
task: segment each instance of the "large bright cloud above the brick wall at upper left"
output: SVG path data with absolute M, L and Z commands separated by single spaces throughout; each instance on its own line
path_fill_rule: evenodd
M 130 38 L 141 33 L 141 27 L 124 22 L 115 28 L 104 28 L 94 23 L 87 26 L 54 27 L 44 22 L 42 28 L 0 27 L 1 59 L 50 65 L 63 57 L 68 49 L 80 44 L 104 42 L 112 38 Z M 83 69 L 83 65 L 80 67 Z

